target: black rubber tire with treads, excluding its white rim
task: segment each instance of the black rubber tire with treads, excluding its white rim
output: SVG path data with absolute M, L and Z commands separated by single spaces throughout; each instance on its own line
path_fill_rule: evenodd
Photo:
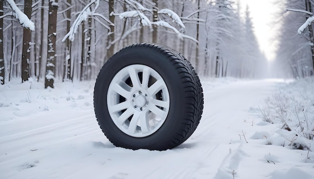
M 111 80 L 123 67 L 143 64 L 164 79 L 170 95 L 170 108 L 163 125 L 144 137 L 122 132 L 110 117 L 107 92 Z M 94 88 L 94 109 L 100 128 L 115 145 L 130 149 L 166 150 L 187 140 L 197 128 L 203 113 L 203 89 L 191 63 L 179 52 L 153 43 L 127 46 L 102 66 Z

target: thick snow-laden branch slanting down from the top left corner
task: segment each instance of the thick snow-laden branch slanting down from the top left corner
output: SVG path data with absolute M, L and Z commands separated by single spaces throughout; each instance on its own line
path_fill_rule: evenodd
M 21 25 L 25 28 L 29 28 L 32 31 L 35 31 L 35 24 L 32 22 L 31 19 L 28 18 L 28 16 L 23 13 L 14 0 L 6 0 L 11 8 L 12 8 L 12 15 L 15 16 L 15 18 L 21 23 Z

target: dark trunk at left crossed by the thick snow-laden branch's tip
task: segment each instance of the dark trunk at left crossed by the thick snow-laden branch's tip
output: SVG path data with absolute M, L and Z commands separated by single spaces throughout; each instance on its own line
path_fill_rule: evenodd
M 24 13 L 31 19 L 32 0 L 24 0 Z M 31 30 L 24 28 L 22 50 L 22 82 L 29 78 Z

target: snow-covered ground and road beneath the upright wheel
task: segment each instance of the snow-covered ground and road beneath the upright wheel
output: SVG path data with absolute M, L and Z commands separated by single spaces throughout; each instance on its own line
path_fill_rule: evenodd
M 200 125 L 166 151 L 111 144 L 94 116 L 94 81 L 57 82 L 54 89 L 36 82 L 0 86 L 0 178 L 314 178 L 314 146 L 291 149 L 295 140 L 286 138 L 290 133 L 280 129 L 282 123 L 257 116 L 288 81 L 201 82 Z M 313 107 L 307 106 L 307 114 Z M 302 141 L 314 145 L 313 139 Z

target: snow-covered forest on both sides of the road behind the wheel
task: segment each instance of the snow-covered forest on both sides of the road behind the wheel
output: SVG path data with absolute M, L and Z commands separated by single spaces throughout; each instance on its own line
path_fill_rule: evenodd
M 312 0 L 278 4 L 272 69 L 285 77 L 312 75 L 312 27 L 297 33 L 312 15 Z M 32 78 L 54 87 L 54 80 L 95 79 L 110 56 L 140 42 L 180 51 L 201 76 L 266 77 L 250 9 L 241 15 L 242 8 L 232 0 L 1 0 L 0 80 Z

